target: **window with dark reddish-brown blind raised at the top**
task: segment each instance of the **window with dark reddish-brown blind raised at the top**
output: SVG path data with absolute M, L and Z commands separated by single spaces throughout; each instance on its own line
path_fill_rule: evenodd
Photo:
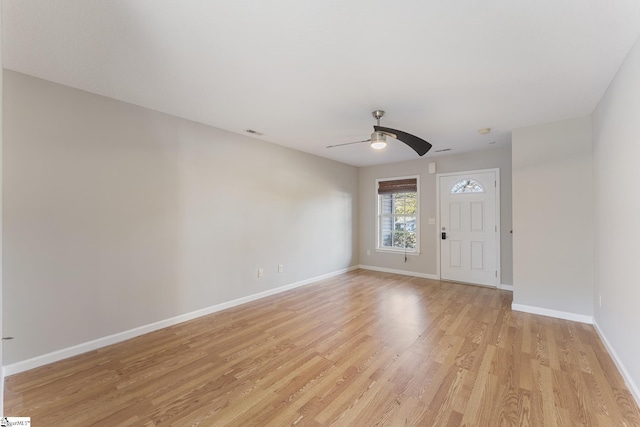
M 418 251 L 418 177 L 380 179 L 378 249 Z

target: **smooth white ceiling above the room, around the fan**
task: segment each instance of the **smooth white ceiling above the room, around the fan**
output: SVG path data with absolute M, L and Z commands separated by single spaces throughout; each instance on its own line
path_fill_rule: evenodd
M 640 35 L 638 0 L 2 0 L 3 65 L 363 166 L 589 114 Z M 479 128 L 491 133 L 480 135 Z M 490 144 L 495 142 L 495 144 Z

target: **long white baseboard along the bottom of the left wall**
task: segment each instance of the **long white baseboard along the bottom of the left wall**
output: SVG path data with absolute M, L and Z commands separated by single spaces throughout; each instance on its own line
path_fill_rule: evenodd
M 246 304 L 251 301 L 255 301 L 261 298 L 265 298 L 271 295 L 279 294 L 291 289 L 299 288 L 318 282 L 320 280 L 328 279 L 330 277 L 338 276 L 340 274 L 347 273 L 349 271 L 357 270 L 358 266 L 343 268 L 341 270 L 334 271 L 332 273 L 323 274 L 320 276 L 312 277 L 310 279 L 301 280 L 299 282 L 290 283 L 288 285 L 280 286 L 279 288 L 269 289 L 264 292 L 249 295 L 246 297 L 238 298 L 232 301 L 216 304 L 211 307 L 203 308 L 200 310 L 192 311 L 190 313 L 181 314 L 176 317 L 161 320 L 159 322 L 150 323 L 148 325 L 139 326 L 137 328 L 130 329 L 128 331 L 118 332 L 113 335 L 98 338 L 92 341 L 88 341 L 82 344 L 74 345 L 71 347 L 63 348 L 51 353 L 36 356 L 31 359 L 23 360 L 20 362 L 12 363 L 2 367 L 4 375 L 14 375 L 20 372 L 28 371 L 39 366 L 47 365 L 49 363 L 57 362 L 62 359 L 77 356 L 88 351 L 96 350 L 108 345 L 116 344 L 122 341 L 126 341 L 131 338 L 135 338 L 140 335 L 148 334 L 149 332 L 157 331 L 158 329 L 167 328 L 169 326 L 177 325 L 178 323 L 186 322 L 188 320 L 196 319 L 198 317 L 206 316 L 218 311 L 226 310 L 231 307 L 236 307 L 241 304 Z

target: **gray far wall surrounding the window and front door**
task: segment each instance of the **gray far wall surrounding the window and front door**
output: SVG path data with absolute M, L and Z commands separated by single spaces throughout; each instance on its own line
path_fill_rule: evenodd
M 399 270 L 418 275 L 438 272 L 439 247 L 436 225 L 429 218 L 437 218 L 436 175 L 428 173 L 428 163 L 436 162 L 438 173 L 500 168 L 500 248 L 502 252 L 502 284 L 513 283 L 511 234 L 511 147 L 423 158 L 408 162 L 369 166 L 359 169 L 360 181 L 360 264 L 364 266 Z M 409 256 L 376 252 L 376 179 L 397 176 L 420 176 L 420 255 Z M 371 255 L 367 255 L 367 250 Z

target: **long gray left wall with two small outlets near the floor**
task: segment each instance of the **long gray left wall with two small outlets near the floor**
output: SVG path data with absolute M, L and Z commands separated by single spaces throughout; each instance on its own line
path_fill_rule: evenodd
M 355 167 L 10 71 L 4 113 L 4 364 L 358 264 Z

